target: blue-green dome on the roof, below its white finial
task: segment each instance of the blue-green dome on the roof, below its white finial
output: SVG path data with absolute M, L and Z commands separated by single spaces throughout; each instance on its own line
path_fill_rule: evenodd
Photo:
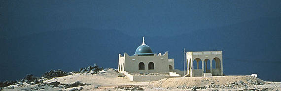
M 135 55 L 147 56 L 147 55 L 154 55 L 154 54 L 148 45 L 140 45 L 136 49 Z

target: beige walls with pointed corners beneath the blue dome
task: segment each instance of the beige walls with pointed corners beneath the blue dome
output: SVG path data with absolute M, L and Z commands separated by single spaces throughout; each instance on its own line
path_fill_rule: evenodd
M 139 70 L 139 63 L 144 63 L 144 70 Z M 154 63 L 154 69 L 148 70 L 148 63 Z M 124 53 L 124 57 L 119 55 L 119 64 L 124 63 L 124 71 L 129 73 L 166 73 L 169 74 L 169 64 L 174 68 L 174 59 L 169 61 L 168 52 L 157 56 L 129 56 Z M 119 68 L 119 67 L 118 67 Z

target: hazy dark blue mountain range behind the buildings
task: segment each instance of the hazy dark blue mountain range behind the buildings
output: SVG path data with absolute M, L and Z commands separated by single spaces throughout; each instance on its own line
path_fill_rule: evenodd
M 186 30 L 180 35 L 145 37 L 154 53 L 169 52 L 175 66 L 183 68 L 186 51 L 223 51 L 226 75 L 257 73 L 261 79 L 281 81 L 281 18 L 252 21 L 206 30 Z M 274 41 L 279 40 L 279 41 Z M 37 76 L 50 69 L 66 71 L 97 63 L 115 67 L 118 53 L 133 55 L 142 38 L 120 30 L 74 28 L 0 39 L 0 80 Z M 12 66 L 11 66 L 12 65 Z

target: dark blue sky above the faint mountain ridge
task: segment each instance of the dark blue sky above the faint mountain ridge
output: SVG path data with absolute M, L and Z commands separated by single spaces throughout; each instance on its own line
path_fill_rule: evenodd
M 132 36 L 176 35 L 280 17 L 280 6 L 280 0 L 1 0 L 1 36 L 71 28 L 116 29 Z

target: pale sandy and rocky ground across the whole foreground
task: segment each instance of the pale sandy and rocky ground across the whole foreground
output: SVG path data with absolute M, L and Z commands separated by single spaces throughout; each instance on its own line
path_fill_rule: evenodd
M 8 85 L 8 86 L 7 86 Z M 252 76 L 169 78 L 131 82 L 115 69 L 98 66 L 64 72 L 51 70 L 42 77 L 27 75 L 20 81 L 0 82 L 0 91 L 279 91 L 281 82 Z M 3 87 L 4 86 L 4 87 Z

